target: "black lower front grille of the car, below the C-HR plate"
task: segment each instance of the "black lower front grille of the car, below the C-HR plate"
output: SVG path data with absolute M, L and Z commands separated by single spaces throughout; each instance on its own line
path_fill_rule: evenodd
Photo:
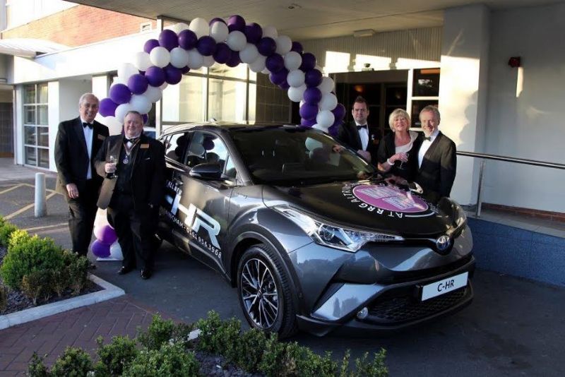
M 420 301 L 409 294 L 400 297 L 379 297 L 368 307 L 369 316 L 364 321 L 381 325 L 417 321 L 457 306 L 471 294 L 468 287 L 463 287 L 426 301 Z

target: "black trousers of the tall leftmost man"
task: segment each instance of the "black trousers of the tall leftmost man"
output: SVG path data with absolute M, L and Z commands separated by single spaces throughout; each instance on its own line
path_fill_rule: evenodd
M 94 220 L 98 207 L 99 186 L 87 181 L 85 189 L 78 193 L 78 198 L 67 196 L 69 205 L 69 232 L 73 242 L 73 251 L 81 256 L 86 256 L 88 246 L 93 237 Z

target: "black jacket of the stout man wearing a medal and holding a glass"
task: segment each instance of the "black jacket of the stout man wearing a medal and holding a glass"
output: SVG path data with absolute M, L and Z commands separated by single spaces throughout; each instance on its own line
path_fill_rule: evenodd
M 98 197 L 99 208 L 108 207 L 117 181 L 106 178 L 105 164 L 109 161 L 110 155 L 119 156 L 121 148 L 124 148 L 124 136 L 110 136 L 96 155 L 96 172 L 101 177 L 105 177 Z M 165 147 L 142 133 L 138 145 L 133 149 L 130 163 L 133 164 L 129 179 L 133 210 L 142 217 L 156 216 L 165 191 Z

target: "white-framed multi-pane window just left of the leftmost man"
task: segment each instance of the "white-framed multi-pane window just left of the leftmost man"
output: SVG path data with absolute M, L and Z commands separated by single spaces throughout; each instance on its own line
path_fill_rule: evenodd
M 47 83 L 23 88 L 23 143 L 25 164 L 49 168 Z

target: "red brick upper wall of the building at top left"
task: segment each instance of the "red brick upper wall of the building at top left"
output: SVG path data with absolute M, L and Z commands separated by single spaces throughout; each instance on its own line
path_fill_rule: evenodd
M 4 30 L 1 38 L 37 38 L 76 47 L 139 32 L 139 25 L 155 20 L 106 11 L 91 6 L 73 6 L 65 11 Z

